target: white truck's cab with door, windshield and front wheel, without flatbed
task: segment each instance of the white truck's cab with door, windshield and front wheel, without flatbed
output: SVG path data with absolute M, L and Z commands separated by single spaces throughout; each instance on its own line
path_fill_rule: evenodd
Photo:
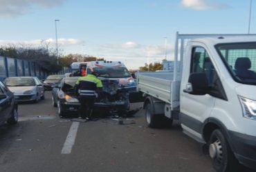
M 241 164 L 254 167 L 255 40 L 253 36 L 190 41 L 180 90 L 184 131 L 200 142 L 208 142 L 212 158 L 225 159 L 223 151 L 228 155 L 232 150 Z

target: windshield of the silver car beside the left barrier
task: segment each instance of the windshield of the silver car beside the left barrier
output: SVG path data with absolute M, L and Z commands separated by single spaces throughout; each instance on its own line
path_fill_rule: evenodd
M 4 83 L 8 87 L 35 86 L 35 80 L 33 78 L 6 78 Z

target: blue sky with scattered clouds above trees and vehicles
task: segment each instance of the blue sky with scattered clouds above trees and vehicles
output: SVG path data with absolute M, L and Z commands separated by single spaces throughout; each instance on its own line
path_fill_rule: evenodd
M 249 6 L 250 0 L 0 0 L 0 45 L 55 48 L 56 23 L 62 54 L 90 54 L 137 69 L 163 60 L 165 41 L 172 60 L 176 32 L 247 34 Z M 252 7 L 255 34 L 255 0 Z

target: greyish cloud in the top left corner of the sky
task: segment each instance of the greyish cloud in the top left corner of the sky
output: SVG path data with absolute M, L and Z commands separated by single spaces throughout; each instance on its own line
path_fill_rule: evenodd
M 31 6 L 53 8 L 66 0 L 0 0 L 0 17 L 17 17 L 31 12 Z

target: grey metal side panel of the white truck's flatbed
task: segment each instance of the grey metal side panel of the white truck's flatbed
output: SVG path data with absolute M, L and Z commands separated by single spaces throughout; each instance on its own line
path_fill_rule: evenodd
M 138 76 L 138 90 L 172 104 L 171 90 L 172 80 L 156 78 L 152 76 Z

